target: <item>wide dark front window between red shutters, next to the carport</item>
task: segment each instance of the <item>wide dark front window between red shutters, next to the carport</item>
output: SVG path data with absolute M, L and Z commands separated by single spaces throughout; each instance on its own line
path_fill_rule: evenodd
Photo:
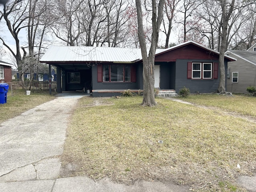
M 103 82 L 131 82 L 130 65 L 103 65 Z

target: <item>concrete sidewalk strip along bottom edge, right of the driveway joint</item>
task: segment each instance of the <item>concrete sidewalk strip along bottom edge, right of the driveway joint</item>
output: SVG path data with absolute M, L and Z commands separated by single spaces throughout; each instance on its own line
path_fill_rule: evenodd
M 94 182 L 87 177 L 70 177 L 57 179 L 53 192 L 186 192 L 187 186 L 177 186 L 175 184 L 163 182 L 138 181 L 134 185 L 114 183 L 109 178 Z

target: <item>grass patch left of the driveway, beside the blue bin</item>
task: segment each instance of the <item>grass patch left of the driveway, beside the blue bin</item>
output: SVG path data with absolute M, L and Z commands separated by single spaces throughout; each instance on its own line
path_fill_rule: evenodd
M 35 92 L 30 95 L 26 95 L 25 90 L 15 90 L 12 97 L 10 90 L 7 93 L 7 102 L 0 104 L 0 123 L 20 115 L 22 112 L 34 108 L 44 102 L 54 99 L 54 96 L 50 96 L 49 92 Z

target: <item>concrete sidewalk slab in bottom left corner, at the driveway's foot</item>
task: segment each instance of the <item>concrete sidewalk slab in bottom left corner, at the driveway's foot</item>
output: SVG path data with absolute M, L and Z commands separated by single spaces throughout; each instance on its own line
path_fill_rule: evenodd
M 0 183 L 1 192 L 51 192 L 54 180 Z

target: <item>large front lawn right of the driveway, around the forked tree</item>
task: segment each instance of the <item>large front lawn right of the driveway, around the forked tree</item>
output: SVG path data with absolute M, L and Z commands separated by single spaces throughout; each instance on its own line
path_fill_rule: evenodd
M 223 113 L 222 104 L 206 109 L 156 101 L 155 107 L 142 107 L 139 96 L 82 98 L 67 129 L 63 165 L 76 166 L 72 176 L 109 176 L 127 184 L 161 180 L 188 184 L 195 191 L 246 191 L 236 178 L 255 170 L 256 124 Z M 241 101 L 248 108 L 255 103 L 249 97 Z M 232 110 L 234 102 L 229 102 L 224 109 Z

